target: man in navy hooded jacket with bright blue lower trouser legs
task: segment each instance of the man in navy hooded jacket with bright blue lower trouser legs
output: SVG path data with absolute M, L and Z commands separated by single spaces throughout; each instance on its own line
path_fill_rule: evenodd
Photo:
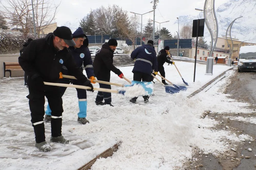
M 91 59 L 91 53 L 88 48 L 88 39 L 87 36 L 84 34 L 84 31 L 81 27 L 78 27 L 78 29 L 72 34 L 73 40 L 75 41 L 75 46 L 70 46 L 68 49 L 71 51 L 73 58 L 75 59 L 76 65 L 81 69 L 81 72 L 83 72 L 82 65 L 84 64 L 85 71 L 87 74 L 87 77 L 90 77 L 91 83 L 93 80 L 95 80 L 94 77 L 94 71 L 93 71 L 93 61 Z M 69 75 L 67 68 L 64 66 L 62 68 L 62 74 Z M 59 83 L 65 83 L 65 84 L 75 84 L 75 85 L 81 85 L 77 80 L 68 79 L 68 78 L 62 78 L 59 80 Z M 66 91 L 66 87 L 59 87 L 59 90 L 61 92 L 61 95 Z M 89 123 L 89 121 L 86 119 L 87 116 L 87 96 L 86 96 L 86 90 L 84 89 L 76 89 L 77 90 L 77 97 L 78 97 L 78 106 L 79 106 L 79 112 L 78 112 L 78 119 L 77 121 L 81 124 Z M 51 121 L 51 110 L 49 107 L 49 104 L 47 105 L 47 110 L 45 111 L 45 122 Z

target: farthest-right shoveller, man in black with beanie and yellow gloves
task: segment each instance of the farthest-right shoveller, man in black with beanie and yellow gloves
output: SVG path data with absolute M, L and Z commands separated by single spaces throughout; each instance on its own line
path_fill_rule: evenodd
M 160 50 L 159 53 L 157 54 L 158 71 L 163 77 L 165 77 L 165 68 L 163 67 L 163 64 L 165 64 L 165 62 L 170 63 L 171 65 L 174 64 L 174 62 L 168 60 L 167 55 L 170 54 L 169 50 L 170 50 L 170 47 L 165 46 L 165 48 Z M 162 83 L 167 85 L 167 83 L 165 82 L 165 79 L 163 78 L 162 78 Z

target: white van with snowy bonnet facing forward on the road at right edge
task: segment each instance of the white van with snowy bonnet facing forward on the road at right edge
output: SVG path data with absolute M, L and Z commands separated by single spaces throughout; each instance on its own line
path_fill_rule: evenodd
M 240 47 L 238 60 L 238 72 L 256 71 L 256 45 Z

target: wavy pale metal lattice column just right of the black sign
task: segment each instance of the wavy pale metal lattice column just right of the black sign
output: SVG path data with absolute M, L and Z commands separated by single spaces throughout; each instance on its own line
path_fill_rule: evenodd
M 204 10 L 203 10 L 203 16 L 205 18 L 205 24 L 208 28 L 210 35 L 211 35 L 211 45 L 210 45 L 210 53 L 209 57 L 212 56 L 213 50 L 216 46 L 217 39 L 218 39 L 218 21 L 215 14 L 215 8 L 214 8 L 215 0 L 205 0 L 204 2 Z M 214 45 L 213 44 L 214 41 Z

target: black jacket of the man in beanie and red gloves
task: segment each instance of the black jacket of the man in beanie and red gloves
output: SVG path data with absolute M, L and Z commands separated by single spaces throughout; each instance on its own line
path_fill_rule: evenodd
M 113 71 L 117 75 L 122 73 L 113 65 L 113 54 L 114 51 L 111 50 L 107 42 L 97 51 L 93 61 L 93 69 L 96 77 L 98 77 L 98 75 L 110 75 L 110 71 Z

